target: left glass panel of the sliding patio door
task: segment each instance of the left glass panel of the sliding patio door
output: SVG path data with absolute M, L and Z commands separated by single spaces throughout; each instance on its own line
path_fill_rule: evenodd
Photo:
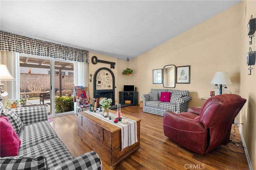
M 21 107 L 45 105 L 52 117 L 52 78 L 48 70 L 54 61 L 44 57 L 20 55 Z

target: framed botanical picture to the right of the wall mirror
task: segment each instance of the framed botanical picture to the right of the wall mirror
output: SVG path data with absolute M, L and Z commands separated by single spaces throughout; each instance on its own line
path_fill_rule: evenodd
M 176 67 L 176 83 L 190 83 L 190 66 Z

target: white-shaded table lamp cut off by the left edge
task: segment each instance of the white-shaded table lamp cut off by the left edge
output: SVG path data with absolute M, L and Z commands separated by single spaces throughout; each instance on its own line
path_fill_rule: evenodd
M 6 65 L 4 64 L 0 64 L 0 73 L 0 80 L 15 80 L 15 78 L 13 78 L 13 76 L 8 71 Z M 4 84 L 0 84 L 0 87 L 1 86 L 4 86 Z M 0 88 L 0 95 L 5 97 L 8 95 L 8 93 Z M 3 99 L 0 97 L 0 102 L 2 102 L 2 100 Z

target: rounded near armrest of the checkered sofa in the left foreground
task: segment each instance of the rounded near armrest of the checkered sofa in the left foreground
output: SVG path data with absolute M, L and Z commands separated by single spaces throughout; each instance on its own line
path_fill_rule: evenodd
M 70 170 L 70 169 L 81 169 L 81 170 L 102 170 L 102 162 L 96 152 L 86 152 L 81 156 L 78 156 L 72 160 L 68 160 L 55 167 L 54 170 Z

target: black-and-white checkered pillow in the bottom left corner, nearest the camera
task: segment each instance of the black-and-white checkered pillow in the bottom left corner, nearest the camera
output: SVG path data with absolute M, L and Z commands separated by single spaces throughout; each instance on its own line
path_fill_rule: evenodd
M 45 156 L 14 156 L 0 158 L 1 170 L 48 170 Z

